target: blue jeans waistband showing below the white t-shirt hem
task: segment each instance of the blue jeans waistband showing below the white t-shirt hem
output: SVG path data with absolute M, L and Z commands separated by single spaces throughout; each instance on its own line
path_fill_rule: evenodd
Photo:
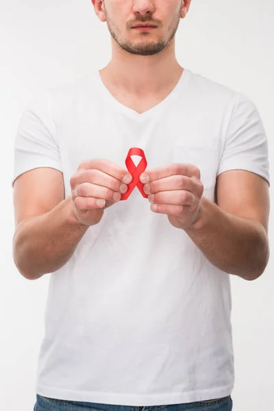
M 232 411 L 232 397 L 214 401 L 171 404 L 168 406 L 116 406 L 82 401 L 66 401 L 36 394 L 34 411 Z

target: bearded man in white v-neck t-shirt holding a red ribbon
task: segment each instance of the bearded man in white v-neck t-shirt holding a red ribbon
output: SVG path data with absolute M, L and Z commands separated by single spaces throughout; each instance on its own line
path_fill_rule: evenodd
M 260 114 L 179 66 L 190 0 L 92 3 L 112 60 L 34 99 L 16 134 L 14 262 L 51 273 L 34 410 L 232 410 L 229 278 L 269 259 Z M 148 198 L 122 201 L 132 147 Z

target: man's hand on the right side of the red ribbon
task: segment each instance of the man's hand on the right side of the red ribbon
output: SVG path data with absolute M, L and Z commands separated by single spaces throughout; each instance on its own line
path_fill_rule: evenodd
M 147 176 L 147 179 L 144 177 Z M 167 214 L 176 228 L 189 228 L 199 218 L 203 195 L 201 174 L 193 164 L 169 164 L 140 175 L 151 211 Z

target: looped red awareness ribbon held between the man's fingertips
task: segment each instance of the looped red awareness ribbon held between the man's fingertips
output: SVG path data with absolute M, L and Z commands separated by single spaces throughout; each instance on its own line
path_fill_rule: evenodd
M 137 167 L 131 159 L 132 155 L 140 155 L 140 157 L 142 157 Z M 125 159 L 125 165 L 127 166 L 127 170 L 129 171 L 129 173 L 132 174 L 133 178 L 132 182 L 127 184 L 127 192 L 121 195 L 120 201 L 128 199 L 129 195 L 132 194 L 132 191 L 136 186 L 140 191 L 142 197 L 145 197 L 145 199 L 147 199 L 147 197 L 149 196 L 143 190 L 144 184 L 140 182 L 140 175 L 147 168 L 147 159 L 145 158 L 144 151 L 142 151 L 142 149 L 138 149 L 137 147 L 132 147 L 131 149 L 129 149 L 129 152 L 127 153 L 127 158 Z

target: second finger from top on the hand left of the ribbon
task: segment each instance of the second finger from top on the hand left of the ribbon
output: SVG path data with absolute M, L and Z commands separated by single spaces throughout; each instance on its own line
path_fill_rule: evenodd
M 119 179 L 103 173 L 101 170 L 80 170 L 71 177 L 71 188 L 74 189 L 79 184 L 90 183 L 97 186 L 108 187 L 116 192 L 126 192 L 127 185 Z

